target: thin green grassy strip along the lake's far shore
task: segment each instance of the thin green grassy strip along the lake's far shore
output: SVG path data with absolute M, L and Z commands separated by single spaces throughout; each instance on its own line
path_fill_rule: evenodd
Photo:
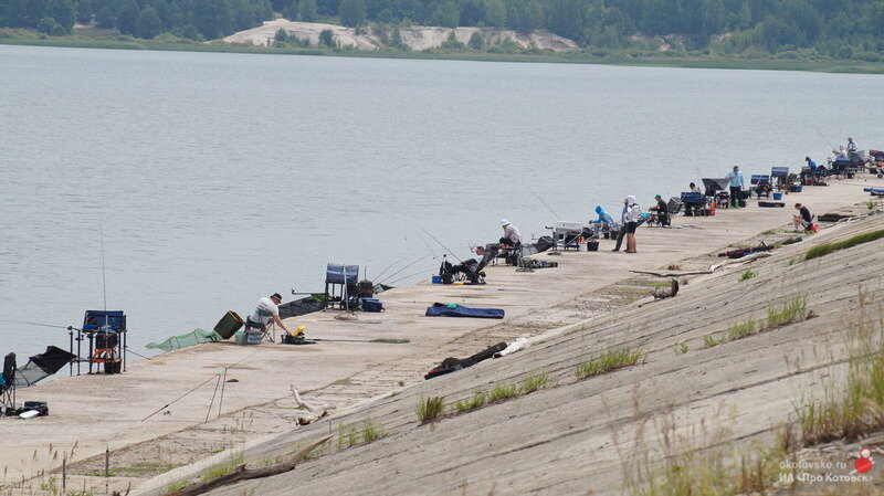
M 799 71 L 830 74 L 884 74 L 884 63 L 864 61 L 793 61 L 785 59 L 713 57 L 615 57 L 566 53 L 490 53 L 490 52 L 406 52 L 392 50 L 275 49 L 228 43 L 168 43 L 148 40 L 98 40 L 71 38 L 6 38 L 0 45 L 50 46 L 69 49 L 150 50 L 162 52 L 245 53 L 261 55 L 344 56 L 351 59 L 439 60 L 469 62 L 516 62 L 592 64 L 638 67 L 723 68 L 743 71 Z

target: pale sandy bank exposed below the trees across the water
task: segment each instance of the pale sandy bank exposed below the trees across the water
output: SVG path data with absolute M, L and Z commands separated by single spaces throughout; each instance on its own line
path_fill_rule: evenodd
M 263 25 L 245 31 L 233 33 L 224 41 L 228 43 L 252 43 L 266 46 L 272 43 L 276 32 L 284 29 L 290 36 L 298 40 L 309 40 L 311 44 L 319 43 L 319 33 L 324 30 L 332 30 L 335 42 L 344 48 L 352 46 L 358 50 L 380 50 L 390 44 L 391 32 L 382 31 L 377 28 L 365 28 L 357 33 L 354 28 L 345 28 L 336 24 L 323 24 L 318 22 L 293 22 L 286 19 L 275 19 L 267 21 Z M 411 50 L 427 50 L 439 48 L 448 41 L 451 33 L 461 43 L 469 43 L 473 33 L 480 32 L 486 45 L 498 45 L 505 40 L 512 40 L 522 49 L 554 50 L 556 52 L 569 52 L 578 50 L 577 43 L 567 38 L 552 34 L 547 31 L 535 31 L 530 34 L 522 34 L 512 30 L 495 28 L 441 28 L 415 25 L 402 29 L 400 34 L 402 43 Z

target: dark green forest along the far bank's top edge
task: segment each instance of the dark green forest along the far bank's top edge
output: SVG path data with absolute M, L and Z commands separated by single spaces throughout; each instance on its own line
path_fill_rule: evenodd
M 606 49 L 653 50 L 654 36 L 675 34 L 676 50 L 884 51 L 884 0 L 0 0 L 0 25 L 70 33 L 74 21 L 94 20 L 140 38 L 215 39 L 274 11 L 349 27 L 546 29 Z

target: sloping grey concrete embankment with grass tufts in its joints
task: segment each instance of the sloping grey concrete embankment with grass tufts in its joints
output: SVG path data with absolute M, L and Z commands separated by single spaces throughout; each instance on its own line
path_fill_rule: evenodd
M 212 494 L 619 494 L 624 462 L 646 442 L 653 445 L 659 414 L 672 412 L 685 432 L 727 423 L 730 440 L 769 441 L 771 428 L 793 421 L 796 402 L 821 395 L 825 381 L 838 377 L 845 360 L 844 319 L 855 313 L 861 288 L 882 288 L 884 241 L 790 261 L 821 242 L 877 229 L 884 229 L 884 215 L 830 226 L 749 263 L 754 278 L 739 281 L 746 266 L 716 271 L 691 281 L 675 298 L 642 303 L 526 351 L 281 435 L 248 458 L 291 453 L 298 443 L 336 432 L 339 423 L 358 426 L 371 419 L 389 434 L 366 445 L 333 446 L 287 474 Z M 704 336 L 764 318 L 767 308 L 797 294 L 807 296 L 815 317 L 704 348 Z M 683 342 L 690 350 L 676 352 Z M 644 348 L 646 362 L 575 378 L 586 357 L 619 346 Z M 453 402 L 532 371 L 548 373 L 556 386 L 429 425 L 415 414 L 421 397 Z M 696 442 L 702 446 L 703 436 Z

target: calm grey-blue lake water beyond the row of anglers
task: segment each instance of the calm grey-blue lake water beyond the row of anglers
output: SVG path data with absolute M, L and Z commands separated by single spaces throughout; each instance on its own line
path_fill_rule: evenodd
M 129 344 L 677 194 L 853 136 L 884 146 L 875 75 L 0 46 L 0 353 L 66 347 L 107 305 Z M 102 243 L 103 240 L 103 243 Z M 439 246 L 433 246 L 441 252 Z M 425 258 L 396 284 L 428 278 Z M 393 272 L 391 270 L 389 272 Z M 388 272 L 388 273 L 389 273 Z M 415 274 L 417 273 L 417 274 Z M 388 282 L 393 282 L 388 281 Z

